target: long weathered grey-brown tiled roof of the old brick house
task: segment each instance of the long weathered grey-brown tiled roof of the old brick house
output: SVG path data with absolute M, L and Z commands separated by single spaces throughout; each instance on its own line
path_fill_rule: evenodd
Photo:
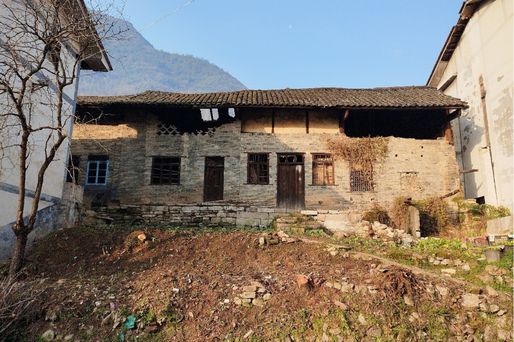
M 79 96 L 79 106 L 170 105 L 184 107 L 450 107 L 467 108 L 457 98 L 427 86 L 373 89 L 307 88 L 182 94 L 147 90 L 135 95 Z

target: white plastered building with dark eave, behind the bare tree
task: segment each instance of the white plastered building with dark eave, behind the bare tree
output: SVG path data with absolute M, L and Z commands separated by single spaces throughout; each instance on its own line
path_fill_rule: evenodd
M 2 0 L 3 5 L 8 3 L 9 0 Z M 87 11 L 86 6 L 82 0 L 76 0 L 76 5 L 81 6 L 84 11 Z M 5 6 L 2 6 L 0 7 L 0 11 L 4 12 L 3 14 L 5 14 L 7 9 Z M 6 43 L 8 43 L 7 38 L 0 35 L 0 44 L 5 46 Z M 78 63 L 76 70 L 77 78 L 75 79 L 74 84 L 64 88 L 63 111 L 67 111 L 64 127 L 69 137 L 71 137 L 74 124 L 75 105 L 79 86 L 78 80 L 81 69 L 96 72 L 112 70 L 111 63 L 109 62 L 103 46 L 99 44 L 96 49 L 94 48 L 93 50 L 93 52 L 88 54 L 88 58 L 86 58 L 81 63 Z M 64 56 L 64 58 L 69 59 L 70 63 L 67 63 L 68 65 L 74 65 L 74 63 L 72 63 L 73 61 L 71 60 L 72 58 L 75 58 L 73 44 L 66 46 L 66 48 L 62 48 L 61 55 Z M 47 61 L 47 63 L 50 62 Z M 36 73 L 33 78 L 44 79 L 45 76 L 46 75 L 44 75 L 43 72 L 39 72 Z M 53 86 L 53 88 L 55 88 L 53 89 L 52 86 L 53 85 L 50 85 L 50 91 L 55 91 L 57 88 Z M 39 106 L 36 105 L 35 108 L 33 108 L 29 117 L 29 124 L 32 128 L 38 128 L 47 125 L 52 126 L 52 122 L 55 120 L 55 116 L 54 112 L 49 108 L 49 106 L 41 104 Z M 45 135 L 44 132 L 33 133 L 30 139 L 30 143 L 32 146 L 44 146 L 47 137 L 48 134 Z M 2 152 L 1 154 L 3 156 L 1 166 L 2 172 L 0 173 L 0 262 L 6 262 L 8 261 L 12 250 L 14 249 L 14 244 L 16 241 L 16 236 L 14 235 L 11 227 L 16 219 L 17 204 L 20 191 L 20 169 L 19 164 L 17 164 L 19 161 L 19 156 L 16 154 L 15 148 L 6 147 L 12 145 L 10 142 L 7 143 L 7 139 L 12 139 L 12 137 L 6 137 L 6 134 L 4 134 L 3 136 L 0 136 L 0 139 L 2 139 L 2 146 L 4 147 L 0 151 Z M 6 156 L 10 157 L 6 158 Z M 27 221 L 31 210 L 34 198 L 34 190 L 38 180 L 38 172 L 44 159 L 45 149 L 36 147 L 28 160 L 29 166 L 27 169 L 25 187 L 25 222 Z M 72 220 L 75 218 L 74 213 L 76 208 L 74 208 L 73 204 L 63 205 L 65 202 L 63 200 L 64 197 L 69 199 L 71 197 L 70 195 L 73 195 L 76 191 L 80 192 L 80 189 L 76 189 L 75 186 L 71 186 L 70 184 L 65 186 L 66 176 L 68 174 L 68 160 L 69 139 L 67 138 L 58 150 L 56 158 L 54 158 L 54 162 L 50 164 L 45 173 L 38 216 L 34 230 L 29 234 L 29 244 L 34 238 L 43 236 L 49 231 L 58 228 L 59 225 L 63 222 L 63 217 L 72 216 Z

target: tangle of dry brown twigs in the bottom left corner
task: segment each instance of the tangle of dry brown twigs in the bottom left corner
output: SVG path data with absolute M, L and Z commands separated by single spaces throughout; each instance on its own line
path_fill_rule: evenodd
M 18 280 L 19 275 L 0 278 L 0 341 L 5 341 L 23 322 L 31 320 L 38 308 L 39 293 L 34 282 Z

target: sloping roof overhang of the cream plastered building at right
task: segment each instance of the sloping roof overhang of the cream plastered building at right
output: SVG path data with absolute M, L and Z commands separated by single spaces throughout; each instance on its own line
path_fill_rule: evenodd
M 484 0 L 467 0 L 462 4 L 461 10 L 458 12 L 457 24 L 451 28 L 450 34 L 446 38 L 443 49 L 439 53 L 437 62 L 428 78 L 427 86 L 437 87 L 440 83 L 453 51 L 457 48 L 458 42 L 461 40 L 461 36 L 468 25 L 469 19 L 473 16 L 476 6 L 482 1 Z

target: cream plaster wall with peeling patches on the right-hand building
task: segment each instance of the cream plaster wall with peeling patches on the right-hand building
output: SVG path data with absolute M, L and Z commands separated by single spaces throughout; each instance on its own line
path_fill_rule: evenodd
M 439 88 L 456 74 L 445 94 L 469 104 L 469 109 L 452 122 L 455 152 L 461 169 L 479 170 L 461 175 L 466 198 L 485 196 L 487 204 L 503 205 L 511 211 L 514 209 L 512 16 L 512 0 L 480 3 L 437 86 Z M 486 91 L 490 151 L 484 129 L 480 75 Z

